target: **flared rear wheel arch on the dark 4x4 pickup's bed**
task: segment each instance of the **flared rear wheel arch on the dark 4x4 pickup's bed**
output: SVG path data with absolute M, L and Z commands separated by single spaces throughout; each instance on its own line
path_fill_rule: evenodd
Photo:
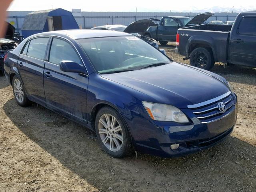
M 214 39 L 210 36 L 205 36 L 205 35 L 195 35 L 195 36 L 191 36 L 188 39 L 188 43 L 186 44 L 186 53 L 187 53 L 187 57 L 189 58 L 190 55 L 190 47 L 195 45 L 195 44 L 200 44 L 200 46 L 198 47 L 209 47 L 212 49 L 212 54 L 214 57 L 214 60 L 216 60 L 216 47 L 215 47 L 215 43 L 214 43 Z

